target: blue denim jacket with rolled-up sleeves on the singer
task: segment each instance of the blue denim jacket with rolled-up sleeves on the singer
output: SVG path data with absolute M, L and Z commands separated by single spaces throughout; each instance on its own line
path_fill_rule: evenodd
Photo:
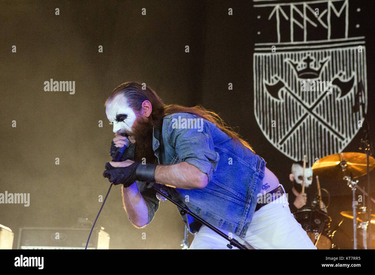
M 266 165 L 263 158 L 242 144 L 235 144 L 215 124 L 190 113 L 165 116 L 161 131 L 153 129 L 152 145 L 159 164 L 184 161 L 208 176 L 203 189 L 158 186 L 214 227 L 245 237 L 262 186 Z M 150 223 L 159 201 L 145 183 L 137 185 L 147 204 Z M 199 222 L 189 215 L 182 219 L 191 233 L 198 232 Z

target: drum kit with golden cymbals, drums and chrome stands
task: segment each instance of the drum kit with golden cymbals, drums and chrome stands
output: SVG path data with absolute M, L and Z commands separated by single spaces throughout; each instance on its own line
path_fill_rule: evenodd
M 333 237 L 335 236 L 337 230 L 331 229 L 332 219 L 324 211 L 322 211 L 324 207 L 323 202 L 321 201 L 319 177 L 332 181 L 336 180 L 345 182 L 346 185 L 351 189 L 353 195 L 353 211 L 342 211 L 341 216 L 345 217 L 344 219 L 353 220 L 353 248 L 357 249 L 358 246 L 357 229 L 359 229 L 362 233 L 363 248 L 367 249 L 368 244 L 369 248 L 371 248 L 371 224 L 374 224 L 373 226 L 375 227 L 375 215 L 370 213 L 370 202 L 368 201 L 368 205 L 366 207 L 365 200 L 370 199 L 374 203 L 375 200 L 369 196 L 365 188 L 359 186 L 358 180 L 354 180 L 363 175 L 368 175 L 369 172 L 374 169 L 374 167 L 375 159 L 372 156 L 365 153 L 353 152 L 325 156 L 314 163 L 312 169 L 314 174 L 317 176 L 318 202 L 320 204 L 320 210 L 302 209 L 293 214 L 318 249 L 339 249 L 338 245 L 333 243 Z M 302 184 L 302 188 L 303 187 L 304 185 Z M 359 190 L 360 193 L 357 190 Z M 358 207 L 359 202 L 363 202 L 363 206 L 360 208 Z M 357 208 L 359 209 L 357 210 Z M 341 223 L 339 223 L 336 229 L 339 228 Z

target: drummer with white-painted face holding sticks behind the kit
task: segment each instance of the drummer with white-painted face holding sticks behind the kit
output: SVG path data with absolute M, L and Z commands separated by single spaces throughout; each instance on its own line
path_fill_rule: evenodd
M 317 196 L 317 187 L 312 186 L 312 168 L 306 164 L 305 169 L 305 193 L 302 193 L 302 182 L 303 182 L 303 162 L 294 162 L 289 175 L 290 184 L 286 184 L 288 192 L 288 202 L 291 213 L 295 213 L 298 210 L 305 208 L 318 208 L 319 203 L 314 199 Z M 323 203 L 322 211 L 327 213 L 327 208 Z

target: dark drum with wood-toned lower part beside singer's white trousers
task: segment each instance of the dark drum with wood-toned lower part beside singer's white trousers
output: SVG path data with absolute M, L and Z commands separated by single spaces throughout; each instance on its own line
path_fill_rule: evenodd
M 293 215 L 318 249 L 334 248 L 330 235 L 332 221 L 330 216 L 323 211 L 314 209 L 299 210 Z

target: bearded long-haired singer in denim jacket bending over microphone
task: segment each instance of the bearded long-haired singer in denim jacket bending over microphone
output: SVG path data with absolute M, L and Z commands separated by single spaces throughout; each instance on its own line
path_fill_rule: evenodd
M 126 149 L 118 162 L 107 162 L 103 175 L 122 184 L 124 208 L 135 227 L 149 224 L 159 207 L 160 196 L 149 188 L 154 184 L 249 248 L 316 249 L 291 214 L 278 178 L 216 113 L 165 105 L 136 82 L 115 88 L 105 107 L 115 133 L 110 154 Z M 181 217 L 191 233 L 198 232 L 190 249 L 228 249 L 228 241 L 213 230 Z

